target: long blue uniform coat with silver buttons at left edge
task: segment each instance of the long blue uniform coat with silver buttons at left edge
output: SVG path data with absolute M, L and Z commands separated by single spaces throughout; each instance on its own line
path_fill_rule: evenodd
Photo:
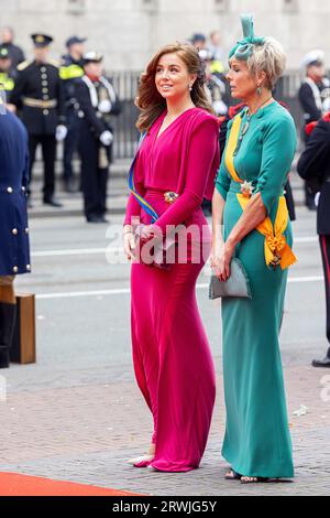
M 22 122 L 0 116 L 0 276 L 30 271 L 26 195 L 29 152 Z

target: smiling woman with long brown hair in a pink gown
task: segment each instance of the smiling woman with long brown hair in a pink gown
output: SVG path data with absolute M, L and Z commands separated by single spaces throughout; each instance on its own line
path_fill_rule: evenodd
M 197 50 L 189 44 L 162 48 L 142 75 L 136 105 L 138 128 L 146 136 L 135 161 L 134 186 L 160 217 L 153 222 L 131 194 L 123 242 L 132 260 L 133 363 L 154 430 L 147 454 L 129 462 L 187 472 L 199 466 L 204 454 L 216 392 L 195 288 L 211 246 L 201 202 L 213 192 L 219 125 Z M 168 192 L 178 195 L 174 203 L 168 203 Z M 140 218 L 144 242 L 164 236 L 168 226 L 194 225 L 185 257 L 176 256 L 168 270 L 136 260 L 133 218 Z

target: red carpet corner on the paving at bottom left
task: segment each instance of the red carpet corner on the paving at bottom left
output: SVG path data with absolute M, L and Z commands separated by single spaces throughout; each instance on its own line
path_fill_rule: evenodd
M 136 496 L 134 493 L 52 481 L 19 473 L 0 473 L 0 496 Z

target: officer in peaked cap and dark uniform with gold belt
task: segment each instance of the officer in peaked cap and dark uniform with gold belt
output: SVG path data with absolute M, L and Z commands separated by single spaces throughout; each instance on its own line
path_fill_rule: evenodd
M 53 37 L 47 34 L 32 34 L 34 60 L 18 66 L 19 75 L 12 91 L 11 102 L 21 110 L 21 118 L 29 133 L 30 173 L 38 144 L 44 160 L 43 202 L 61 207 L 55 199 L 56 140 L 64 140 L 65 107 L 63 83 L 58 66 L 48 60 Z M 31 174 L 30 174 L 31 179 Z

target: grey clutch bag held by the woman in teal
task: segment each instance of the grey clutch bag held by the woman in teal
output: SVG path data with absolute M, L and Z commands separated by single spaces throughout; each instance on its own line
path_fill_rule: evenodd
M 231 274 L 226 282 L 212 274 L 209 287 L 209 299 L 215 300 L 227 296 L 252 299 L 248 273 L 240 259 L 234 257 L 230 263 Z

